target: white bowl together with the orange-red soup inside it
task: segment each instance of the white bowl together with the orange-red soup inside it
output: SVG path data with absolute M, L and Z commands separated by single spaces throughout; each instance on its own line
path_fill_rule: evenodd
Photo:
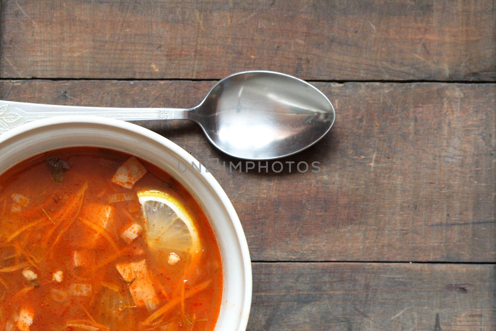
M 2 329 L 246 329 L 245 235 L 186 151 L 63 117 L 0 135 L 0 155 Z

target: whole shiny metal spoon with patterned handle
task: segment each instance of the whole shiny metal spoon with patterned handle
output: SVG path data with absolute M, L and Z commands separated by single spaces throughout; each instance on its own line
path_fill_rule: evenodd
M 103 108 L 0 101 L 0 133 L 23 123 L 60 115 L 121 119 L 185 119 L 199 124 L 226 154 L 270 160 L 298 153 L 322 138 L 335 113 L 329 99 L 309 83 L 283 73 L 245 71 L 218 81 L 196 107 Z

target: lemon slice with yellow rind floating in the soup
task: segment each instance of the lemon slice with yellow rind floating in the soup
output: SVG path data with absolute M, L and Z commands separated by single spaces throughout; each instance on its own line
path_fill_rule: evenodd
M 137 193 L 145 218 L 145 240 L 150 248 L 195 252 L 198 230 L 185 206 L 170 194 L 155 190 Z

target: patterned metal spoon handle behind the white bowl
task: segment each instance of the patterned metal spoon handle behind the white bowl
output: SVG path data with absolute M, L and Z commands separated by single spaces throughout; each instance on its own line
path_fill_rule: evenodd
M 0 133 L 21 124 L 54 116 L 91 115 L 123 121 L 187 119 L 191 109 L 180 108 L 111 108 L 43 105 L 0 100 Z

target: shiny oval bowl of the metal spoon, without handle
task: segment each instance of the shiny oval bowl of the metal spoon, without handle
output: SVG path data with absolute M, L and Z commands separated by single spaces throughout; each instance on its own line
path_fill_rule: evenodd
M 320 140 L 335 119 L 322 92 L 272 71 L 239 72 L 220 80 L 190 115 L 214 146 L 249 160 L 298 153 Z

